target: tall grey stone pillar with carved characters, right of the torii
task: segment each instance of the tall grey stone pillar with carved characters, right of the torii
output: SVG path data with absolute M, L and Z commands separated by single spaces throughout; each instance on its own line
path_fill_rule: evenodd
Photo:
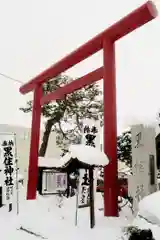
M 129 192 L 133 209 L 138 211 L 139 201 L 157 191 L 155 129 L 142 124 L 132 126 L 132 172 Z

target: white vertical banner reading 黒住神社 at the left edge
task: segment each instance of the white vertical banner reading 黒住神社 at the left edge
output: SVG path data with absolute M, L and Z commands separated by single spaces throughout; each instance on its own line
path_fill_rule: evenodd
M 10 205 L 12 209 L 16 173 L 16 146 L 14 133 L 0 133 L 0 149 L 0 174 L 3 191 L 3 204 Z

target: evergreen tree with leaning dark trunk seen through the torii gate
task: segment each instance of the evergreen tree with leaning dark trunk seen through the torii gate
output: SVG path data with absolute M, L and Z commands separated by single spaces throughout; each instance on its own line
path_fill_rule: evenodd
M 43 85 L 43 94 L 46 95 L 65 84 L 73 81 L 66 75 L 59 75 Z M 63 100 L 50 102 L 42 107 L 42 116 L 45 117 L 45 131 L 39 156 L 45 156 L 51 131 L 57 134 L 57 144 L 64 149 L 70 143 L 81 141 L 81 128 L 83 120 L 98 120 L 103 116 L 103 102 L 100 98 L 102 92 L 98 84 L 91 84 L 83 89 L 65 96 Z M 21 111 L 32 111 L 32 101 L 27 102 Z

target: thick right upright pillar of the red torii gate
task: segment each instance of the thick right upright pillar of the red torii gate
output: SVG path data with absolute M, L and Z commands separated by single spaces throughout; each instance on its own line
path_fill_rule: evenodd
M 104 206 L 104 215 L 118 216 L 117 111 L 114 42 L 104 40 L 103 59 L 104 152 L 111 161 L 104 169 L 104 202 L 106 205 Z

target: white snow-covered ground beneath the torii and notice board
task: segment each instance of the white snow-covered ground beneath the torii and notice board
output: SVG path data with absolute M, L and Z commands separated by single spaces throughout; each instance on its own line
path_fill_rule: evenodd
M 76 199 L 64 199 L 61 208 L 55 196 L 41 197 L 37 200 L 26 201 L 24 189 L 20 193 L 19 214 L 8 212 L 6 207 L 0 209 L 0 226 L 3 240 L 82 240 L 121 239 L 123 227 L 131 219 L 128 208 L 122 211 L 119 218 L 105 218 L 103 216 L 103 198 L 97 193 L 95 201 L 96 226 L 90 229 L 89 208 L 78 210 L 78 225 L 75 226 Z

